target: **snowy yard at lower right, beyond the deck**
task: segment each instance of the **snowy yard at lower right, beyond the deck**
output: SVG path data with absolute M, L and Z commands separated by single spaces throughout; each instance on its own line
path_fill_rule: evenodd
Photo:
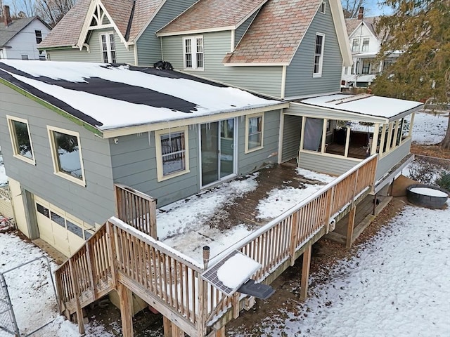
M 445 210 L 406 206 L 330 282 L 292 312 L 229 336 L 450 336 L 450 201 Z M 311 281 L 313 281 L 311 279 Z

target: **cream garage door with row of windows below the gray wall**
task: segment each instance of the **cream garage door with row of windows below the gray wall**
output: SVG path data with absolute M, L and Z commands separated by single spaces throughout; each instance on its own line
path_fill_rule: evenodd
M 94 233 L 94 227 L 86 226 L 69 213 L 34 196 L 39 237 L 65 256 L 71 256 Z

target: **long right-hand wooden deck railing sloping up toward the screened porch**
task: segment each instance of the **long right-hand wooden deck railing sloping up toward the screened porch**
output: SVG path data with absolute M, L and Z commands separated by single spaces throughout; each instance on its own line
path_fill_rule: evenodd
M 271 272 L 289 259 L 290 265 L 293 265 L 297 250 L 319 230 L 328 226 L 333 216 L 343 211 L 345 206 L 351 205 L 359 194 L 368 192 L 373 187 L 377 161 L 376 154 L 362 161 L 297 206 L 219 254 L 210 264 L 238 249 L 262 265 L 252 277 L 258 282 L 264 281 Z M 209 292 L 208 309 L 212 310 L 208 310 L 207 317 L 214 322 L 220 312 L 236 305 L 236 298 L 224 296 L 212 286 Z

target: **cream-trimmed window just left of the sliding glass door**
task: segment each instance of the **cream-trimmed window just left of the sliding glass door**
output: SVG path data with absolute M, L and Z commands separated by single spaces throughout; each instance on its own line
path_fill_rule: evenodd
M 188 128 L 155 131 L 158 181 L 189 172 Z

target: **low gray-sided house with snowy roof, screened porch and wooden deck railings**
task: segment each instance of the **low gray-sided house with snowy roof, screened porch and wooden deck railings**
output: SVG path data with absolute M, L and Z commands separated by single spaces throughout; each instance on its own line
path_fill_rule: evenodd
M 408 160 L 413 120 L 405 118 L 422 106 L 340 94 L 287 102 L 170 70 L 36 62 L 0 62 L 1 148 L 18 228 L 71 256 L 56 284 L 81 333 L 82 308 L 117 291 L 124 336 L 132 336 L 131 293 L 165 316 L 166 336 L 221 336 L 255 300 L 214 276 L 236 249 L 266 283 L 304 256 L 305 298 L 311 244 L 348 213 L 352 229 L 356 204 L 392 182 Z M 288 118 L 300 121 L 300 137 L 284 133 Z M 345 119 L 374 127 L 361 137 L 334 123 Z M 168 204 L 281 162 L 291 138 L 300 141 L 298 166 L 340 177 L 230 242 L 212 267 L 158 241 L 156 199 Z

